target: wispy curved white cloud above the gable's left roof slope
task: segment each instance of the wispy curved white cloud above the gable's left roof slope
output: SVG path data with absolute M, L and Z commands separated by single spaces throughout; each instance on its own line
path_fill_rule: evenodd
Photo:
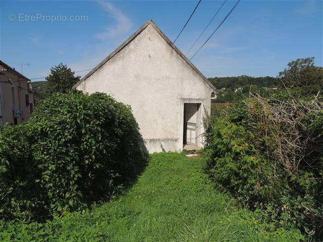
M 104 31 L 96 34 L 98 39 L 115 38 L 128 33 L 133 23 L 122 11 L 114 7 L 111 3 L 100 3 L 104 11 L 114 20 L 111 26 L 105 27 Z

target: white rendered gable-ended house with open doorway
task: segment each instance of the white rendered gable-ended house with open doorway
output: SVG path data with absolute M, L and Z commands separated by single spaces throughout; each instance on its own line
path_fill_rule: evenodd
M 74 87 L 129 104 L 150 153 L 202 147 L 216 90 L 151 20 Z

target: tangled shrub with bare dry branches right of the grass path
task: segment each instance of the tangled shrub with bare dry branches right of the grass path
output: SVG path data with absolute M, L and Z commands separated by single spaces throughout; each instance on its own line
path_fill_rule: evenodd
M 322 237 L 323 110 L 317 98 L 253 97 L 206 125 L 207 170 L 274 227 Z

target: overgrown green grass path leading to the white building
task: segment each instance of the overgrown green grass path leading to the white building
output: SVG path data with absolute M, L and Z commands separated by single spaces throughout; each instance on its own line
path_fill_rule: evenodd
M 267 224 L 212 187 L 204 165 L 203 158 L 152 154 L 119 199 L 46 224 L 0 222 L 0 241 L 302 241 L 296 229 L 267 231 Z

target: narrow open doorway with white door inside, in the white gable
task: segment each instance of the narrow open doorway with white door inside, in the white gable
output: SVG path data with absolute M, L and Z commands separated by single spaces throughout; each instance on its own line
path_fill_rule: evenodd
M 198 149 L 200 103 L 184 103 L 183 149 Z

